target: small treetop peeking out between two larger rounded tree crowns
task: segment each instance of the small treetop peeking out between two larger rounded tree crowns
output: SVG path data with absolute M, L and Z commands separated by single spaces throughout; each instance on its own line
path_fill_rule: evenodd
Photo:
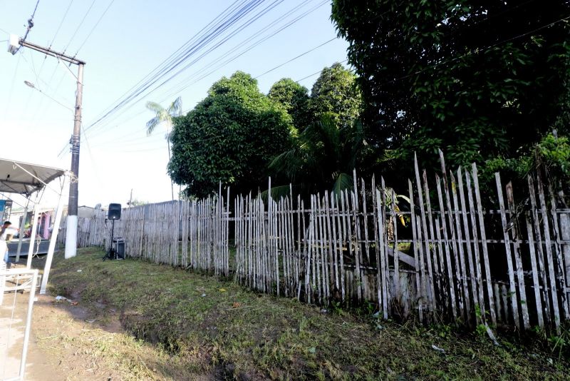
M 291 78 L 281 78 L 271 86 L 267 94 L 271 101 L 281 104 L 293 118 L 293 124 L 301 130 L 311 121 L 309 113 L 309 90 Z

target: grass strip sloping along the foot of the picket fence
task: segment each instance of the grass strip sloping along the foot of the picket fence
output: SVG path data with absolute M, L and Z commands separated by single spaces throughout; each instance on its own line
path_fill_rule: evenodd
M 96 248 L 79 250 L 71 260 L 57 256 L 50 291 L 77 300 L 85 311 L 77 319 L 95 320 L 103 336 L 109 331 L 105 327 L 120 322 L 118 330 L 127 334 L 105 341 L 105 350 L 97 352 L 102 345 L 97 337 L 84 337 L 81 345 L 100 353 L 98 362 L 120 370 L 125 379 L 569 377 L 568 359 L 539 344 L 499 337 L 501 345 L 495 347 L 487 337 L 450 326 L 418 327 L 374 320 L 365 313 L 330 313 L 254 293 L 231 280 L 142 260 L 103 262 L 102 257 Z M 105 353 L 124 358 L 118 361 Z

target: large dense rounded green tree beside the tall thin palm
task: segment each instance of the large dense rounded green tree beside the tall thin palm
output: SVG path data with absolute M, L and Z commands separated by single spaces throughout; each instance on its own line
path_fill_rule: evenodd
M 187 195 L 204 197 L 219 181 L 236 193 L 266 183 L 267 166 L 290 147 L 288 113 L 259 91 L 257 81 L 237 71 L 212 85 L 186 116 L 174 119 L 168 171 Z

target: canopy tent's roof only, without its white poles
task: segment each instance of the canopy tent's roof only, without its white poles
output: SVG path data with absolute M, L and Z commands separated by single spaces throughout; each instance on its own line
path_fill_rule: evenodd
M 0 192 L 30 195 L 65 172 L 59 168 L 0 158 Z

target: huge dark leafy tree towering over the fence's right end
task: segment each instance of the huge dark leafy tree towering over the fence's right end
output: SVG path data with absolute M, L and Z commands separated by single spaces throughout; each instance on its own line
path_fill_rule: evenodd
M 568 128 L 569 14 L 564 0 L 333 0 L 367 141 L 425 166 L 441 148 L 455 166 Z

